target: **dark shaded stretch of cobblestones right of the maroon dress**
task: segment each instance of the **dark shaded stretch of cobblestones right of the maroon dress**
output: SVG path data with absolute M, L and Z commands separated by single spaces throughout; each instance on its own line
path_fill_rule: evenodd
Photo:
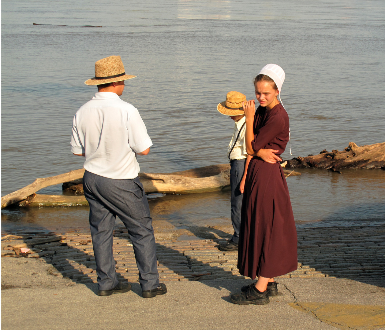
M 334 277 L 385 281 L 385 226 L 298 229 L 298 260 Z

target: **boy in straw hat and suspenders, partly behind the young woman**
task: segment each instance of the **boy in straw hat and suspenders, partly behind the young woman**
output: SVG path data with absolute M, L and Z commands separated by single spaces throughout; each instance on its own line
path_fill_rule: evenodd
M 241 207 L 246 172 L 251 156 L 246 152 L 245 143 L 245 116 L 242 103 L 246 96 L 242 93 L 231 91 L 226 95 L 226 101 L 218 104 L 217 109 L 221 114 L 229 116 L 235 121 L 234 133 L 229 143 L 227 157 L 230 161 L 230 187 L 231 187 L 231 224 L 234 234 L 231 239 L 219 244 L 222 251 L 238 250 L 239 230 L 241 227 Z

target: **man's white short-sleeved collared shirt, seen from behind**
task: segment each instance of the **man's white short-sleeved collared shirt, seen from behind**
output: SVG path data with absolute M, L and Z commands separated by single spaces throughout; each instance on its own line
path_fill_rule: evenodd
M 84 168 L 110 179 L 134 179 L 135 153 L 152 146 L 139 111 L 111 92 L 96 93 L 75 114 L 71 151 L 85 153 Z

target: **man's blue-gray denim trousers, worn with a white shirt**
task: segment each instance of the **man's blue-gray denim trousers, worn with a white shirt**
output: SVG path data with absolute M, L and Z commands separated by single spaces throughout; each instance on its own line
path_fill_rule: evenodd
M 85 171 L 84 195 L 90 205 L 90 229 L 99 290 L 118 284 L 112 254 L 112 231 L 118 216 L 126 226 L 142 290 L 159 285 L 152 219 L 146 194 L 139 179 L 115 180 Z

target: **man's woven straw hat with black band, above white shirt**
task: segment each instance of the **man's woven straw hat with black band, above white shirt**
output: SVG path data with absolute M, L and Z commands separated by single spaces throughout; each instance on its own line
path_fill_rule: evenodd
M 126 75 L 120 56 L 108 56 L 95 63 L 95 77 L 84 83 L 85 85 L 102 85 L 135 77 Z

